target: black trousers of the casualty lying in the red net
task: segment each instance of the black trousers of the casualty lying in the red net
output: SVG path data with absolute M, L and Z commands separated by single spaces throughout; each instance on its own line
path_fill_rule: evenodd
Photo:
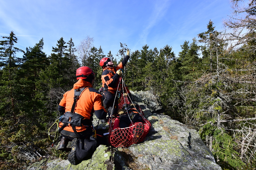
M 143 123 L 143 118 L 141 117 L 140 114 L 138 113 L 129 113 L 131 120 L 133 123 L 136 122 L 141 122 Z M 130 118 L 128 116 L 128 114 L 122 114 L 119 116 L 119 127 L 120 128 L 125 128 L 125 127 L 129 127 L 131 121 Z

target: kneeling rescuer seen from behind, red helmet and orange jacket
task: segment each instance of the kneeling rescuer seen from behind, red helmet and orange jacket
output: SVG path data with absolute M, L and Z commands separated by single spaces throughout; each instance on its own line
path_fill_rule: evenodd
M 80 67 L 76 72 L 77 82 L 61 99 L 58 110 L 63 113 L 59 123 L 62 136 L 57 150 L 66 150 L 68 141 L 92 136 L 93 112 L 99 119 L 106 119 L 101 103 L 101 94 L 92 88 L 94 73 L 89 67 Z

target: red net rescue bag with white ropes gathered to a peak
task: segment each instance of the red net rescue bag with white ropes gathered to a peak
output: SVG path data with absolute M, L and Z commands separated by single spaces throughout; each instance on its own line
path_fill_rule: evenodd
M 129 108 L 128 105 L 133 105 L 131 100 L 131 96 L 127 95 L 124 96 L 125 91 L 125 84 L 122 77 L 119 79 L 118 91 L 116 92 L 116 98 L 119 98 L 119 103 L 117 108 L 122 109 L 124 106 L 125 108 Z M 117 95 L 120 95 L 117 96 Z M 114 101 L 115 103 L 116 101 Z M 134 105 L 133 105 L 134 106 Z M 133 123 L 132 118 L 129 114 L 129 110 L 125 109 L 124 114 L 127 114 L 130 119 L 129 127 L 120 128 L 119 127 L 119 116 L 118 114 L 113 113 L 114 106 L 111 110 L 111 119 L 109 120 L 109 141 L 110 144 L 114 147 L 129 147 L 134 143 L 139 143 L 143 141 L 148 134 L 151 124 L 150 122 L 144 117 L 144 113 L 140 106 L 134 106 L 136 112 L 142 117 L 143 122 L 135 122 Z

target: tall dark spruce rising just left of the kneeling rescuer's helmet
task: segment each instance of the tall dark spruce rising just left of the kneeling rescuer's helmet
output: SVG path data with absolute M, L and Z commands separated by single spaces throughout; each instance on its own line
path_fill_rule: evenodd
M 56 47 L 52 47 L 54 53 L 49 56 L 49 66 L 39 74 L 40 79 L 37 81 L 37 87 L 47 110 L 45 115 L 55 114 L 59 116 L 58 103 L 62 95 L 70 90 L 76 82 L 78 66 L 74 65 L 73 58 L 69 57 L 63 38 L 61 37 L 57 42 Z

